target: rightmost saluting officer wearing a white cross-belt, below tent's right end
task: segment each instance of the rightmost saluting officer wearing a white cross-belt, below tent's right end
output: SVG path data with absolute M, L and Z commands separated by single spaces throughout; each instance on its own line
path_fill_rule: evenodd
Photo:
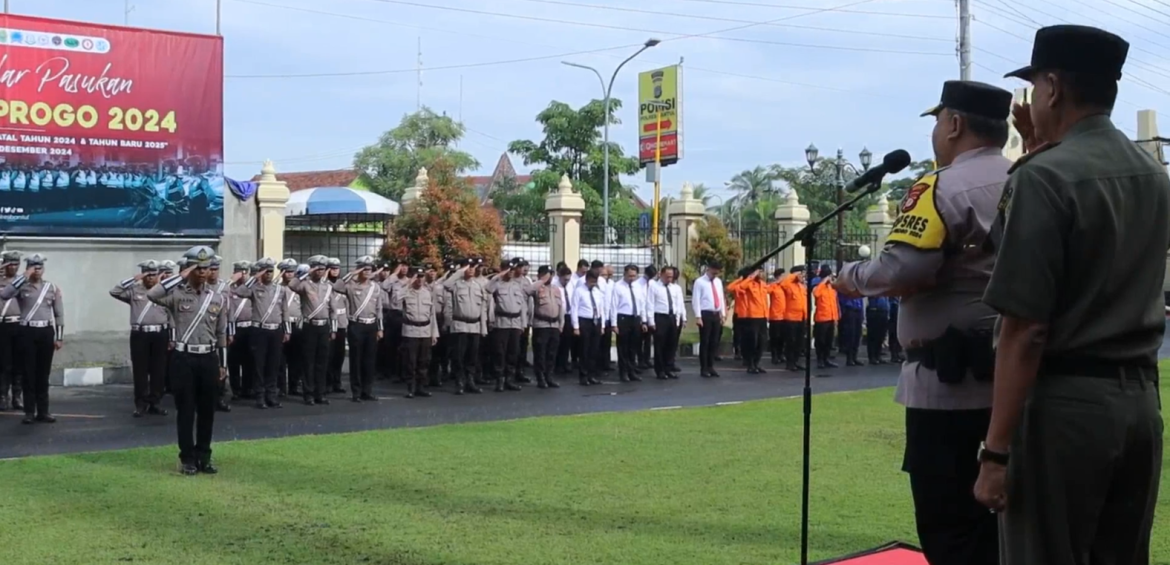
M 374 363 L 378 340 L 383 337 L 381 301 L 385 292 L 373 277 L 374 259 L 358 259 L 352 273 L 333 283 L 333 292 L 345 297 L 349 316 L 350 394 L 355 402 L 376 401 L 373 395 Z

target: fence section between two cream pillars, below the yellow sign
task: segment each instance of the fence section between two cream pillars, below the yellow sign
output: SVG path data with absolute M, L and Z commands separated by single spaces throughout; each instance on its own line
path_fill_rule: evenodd
M 585 225 L 580 230 L 580 257 L 618 267 L 662 264 L 667 246 L 674 242 L 677 232 L 674 227 L 660 226 L 655 229 L 641 222 L 611 223 L 608 232 L 601 225 Z M 655 233 L 658 233 L 656 246 Z

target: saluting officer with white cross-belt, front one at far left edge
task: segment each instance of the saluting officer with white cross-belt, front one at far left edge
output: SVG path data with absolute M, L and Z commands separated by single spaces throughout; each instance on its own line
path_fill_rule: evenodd
M 20 303 L 21 340 L 18 359 L 25 377 L 25 419 L 21 423 L 54 423 L 49 414 L 49 371 L 53 352 L 64 344 L 64 304 L 61 288 L 43 278 L 44 256 L 25 259 L 25 274 L 0 289 L 0 301 Z

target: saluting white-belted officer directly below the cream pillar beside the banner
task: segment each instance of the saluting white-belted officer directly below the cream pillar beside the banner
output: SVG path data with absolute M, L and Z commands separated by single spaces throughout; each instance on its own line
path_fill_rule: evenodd
M 281 349 L 292 333 L 285 310 L 288 289 L 276 282 L 273 270 L 276 262 L 264 257 L 255 263 L 256 275 L 243 284 L 232 287 L 232 294 L 252 303 L 252 336 L 248 337 L 256 365 L 256 383 L 252 390 L 256 408 L 280 408 L 276 400 L 281 370 Z M 232 275 L 235 282 L 243 273 Z

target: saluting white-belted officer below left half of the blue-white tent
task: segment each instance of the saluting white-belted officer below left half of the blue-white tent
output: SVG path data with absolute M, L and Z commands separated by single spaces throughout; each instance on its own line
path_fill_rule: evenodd
M 329 404 L 325 371 L 329 368 L 329 342 L 337 331 L 337 321 L 333 319 L 333 285 L 325 277 L 328 263 L 329 257 L 314 255 L 309 257 L 309 271 L 289 281 L 289 289 L 301 297 L 302 318 L 301 358 L 289 361 L 290 366 L 304 363 L 302 386 L 304 404 L 309 406 Z

